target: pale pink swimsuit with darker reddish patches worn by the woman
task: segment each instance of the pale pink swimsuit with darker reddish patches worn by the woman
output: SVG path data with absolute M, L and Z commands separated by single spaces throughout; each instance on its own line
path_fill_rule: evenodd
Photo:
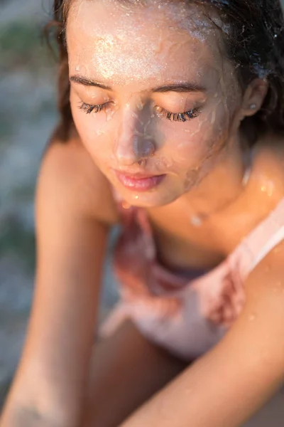
M 122 233 L 114 253 L 121 300 L 102 326 L 104 336 L 127 318 L 148 339 L 188 361 L 207 352 L 241 312 L 244 281 L 284 239 L 284 199 L 217 268 L 196 277 L 158 263 L 143 209 L 119 204 Z

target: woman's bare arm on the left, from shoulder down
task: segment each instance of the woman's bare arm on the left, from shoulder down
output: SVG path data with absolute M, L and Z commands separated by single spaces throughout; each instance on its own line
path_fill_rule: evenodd
M 104 178 L 78 142 L 54 143 L 36 199 L 36 288 L 1 427 L 80 423 L 109 224 Z

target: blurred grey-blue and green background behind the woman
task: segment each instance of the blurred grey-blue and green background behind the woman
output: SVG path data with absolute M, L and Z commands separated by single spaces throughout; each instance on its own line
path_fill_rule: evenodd
M 57 119 L 55 61 L 40 36 L 50 5 L 0 0 L 0 408 L 31 306 L 35 179 Z M 109 264 L 102 315 L 115 299 Z

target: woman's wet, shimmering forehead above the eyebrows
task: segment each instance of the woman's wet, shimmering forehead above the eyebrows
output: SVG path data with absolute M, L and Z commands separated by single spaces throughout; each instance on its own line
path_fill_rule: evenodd
M 180 1 L 75 0 L 67 21 L 70 70 L 121 85 L 212 79 L 222 68 L 220 38 L 204 9 Z

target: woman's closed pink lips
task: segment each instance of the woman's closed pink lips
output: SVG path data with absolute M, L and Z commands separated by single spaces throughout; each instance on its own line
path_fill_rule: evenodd
M 120 172 L 114 170 L 119 182 L 133 191 L 149 191 L 155 186 L 158 186 L 161 181 L 165 178 L 165 174 L 162 175 L 149 175 L 149 174 L 127 174 L 126 172 Z

